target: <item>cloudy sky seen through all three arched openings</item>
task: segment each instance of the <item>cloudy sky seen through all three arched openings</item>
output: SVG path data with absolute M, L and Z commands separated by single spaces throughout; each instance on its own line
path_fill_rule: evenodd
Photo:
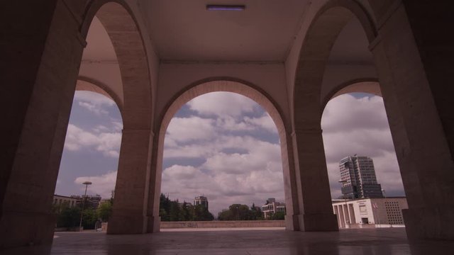
M 109 198 L 116 181 L 121 115 L 114 101 L 87 91 L 74 96 L 55 193 L 84 191 Z M 382 98 L 338 96 L 322 118 L 331 196 L 338 198 L 338 162 L 372 157 L 388 196 L 403 196 L 402 181 Z M 162 193 L 192 201 L 204 194 L 217 215 L 232 203 L 284 200 L 279 137 L 271 118 L 249 98 L 227 92 L 199 96 L 180 109 L 165 137 Z

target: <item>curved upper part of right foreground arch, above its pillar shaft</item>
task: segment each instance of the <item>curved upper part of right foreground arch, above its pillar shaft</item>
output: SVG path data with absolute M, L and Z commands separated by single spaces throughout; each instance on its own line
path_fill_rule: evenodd
M 319 99 L 321 81 L 331 48 L 339 33 L 356 16 L 369 42 L 377 38 L 377 28 L 366 9 L 357 1 L 331 0 L 314 17 L 304 38 L 294 81 L 293 121 L 299 126 L 297 112 L 316 111 L 321 113 Z M 318 106 L 317 106 L 318 105 Z

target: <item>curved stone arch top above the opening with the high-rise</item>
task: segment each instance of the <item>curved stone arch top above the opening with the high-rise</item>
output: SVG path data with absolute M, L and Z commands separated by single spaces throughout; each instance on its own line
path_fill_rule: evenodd
M 343 94 L 356 92 L 382 96 L 382 91 L 380 89 L 380 83 L 378 82 L 378 79 L 355 79 L 339 84 L 332 91 L 330 91 L 328 95 L 326 95 L 322 100 L 321 111 L 324 111 L 326 104 L 328 104 L 331 99 Z

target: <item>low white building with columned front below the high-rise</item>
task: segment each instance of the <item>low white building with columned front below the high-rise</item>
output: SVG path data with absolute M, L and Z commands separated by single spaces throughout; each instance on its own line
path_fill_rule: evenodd
M 339 228 L 404 227 L 402 209 L 408 209 L 404 197 L 333 200 Z

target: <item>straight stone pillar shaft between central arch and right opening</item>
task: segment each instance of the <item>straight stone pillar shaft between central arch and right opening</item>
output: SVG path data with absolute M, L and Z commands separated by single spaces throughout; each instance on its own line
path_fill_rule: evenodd
M 326 169 L 321 129 L 299 129 L 292 134 L 301 231 L 337 231 Z

